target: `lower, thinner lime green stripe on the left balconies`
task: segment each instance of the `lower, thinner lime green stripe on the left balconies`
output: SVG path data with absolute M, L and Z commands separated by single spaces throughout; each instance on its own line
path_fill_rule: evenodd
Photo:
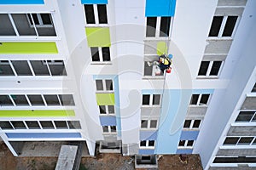
M 0 111 L 0 117 L 75 116 L 73 110 L 50 111 Z

